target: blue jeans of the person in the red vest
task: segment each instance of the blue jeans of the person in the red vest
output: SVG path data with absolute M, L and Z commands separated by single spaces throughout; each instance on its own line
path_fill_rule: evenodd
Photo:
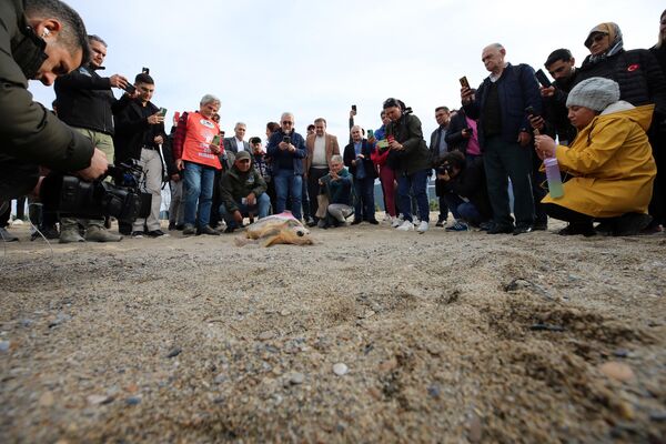
M 194 225 L 199 220 L 199 228 L 204 228 L 211 218 L 215 169 L 185 161 L 184 171 L 185 224 Z M 199 216 L 196 202 L 199 202 Z

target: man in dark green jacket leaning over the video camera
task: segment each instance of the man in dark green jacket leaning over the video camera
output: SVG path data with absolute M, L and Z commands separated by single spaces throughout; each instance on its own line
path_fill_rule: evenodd
M 79 14 L 59 0 L 0 2 L 0 201 L 37 189 L 38 165 L 93 180 L 104 153 L 32 101 L 28 80 L 46 85 L 89 58 Z

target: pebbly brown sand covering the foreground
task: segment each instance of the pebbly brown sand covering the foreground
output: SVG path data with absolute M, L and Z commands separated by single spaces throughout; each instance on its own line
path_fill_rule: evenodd
M 556 228 L 12 229 L 0 442 L 665 442 L 666 238 Z

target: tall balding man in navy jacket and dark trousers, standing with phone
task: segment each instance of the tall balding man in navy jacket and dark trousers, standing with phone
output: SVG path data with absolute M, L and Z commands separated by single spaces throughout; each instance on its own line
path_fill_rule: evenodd
M 483 150 L 488 195 L 493 206 L 490 234 L 528 233 L 534 224 L 532 196 L 532 133 L 526 109 L 542 113 L 542 101 L 534 69 L 512 65 L 500 43 L 484 48 L 482 61 L 491 72 L 476 93 L 461 90 L 465 113 L 478 119 L 478 141 Z M 514 193 L 514 228 L 508 205 L 508 180 Z

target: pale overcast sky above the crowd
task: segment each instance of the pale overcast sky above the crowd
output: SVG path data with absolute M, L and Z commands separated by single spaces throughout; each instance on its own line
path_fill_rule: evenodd
M 376 129 L 389 97 L 414 109 L 430 140 L 434 109 L 460 107 L 458 78 L 476 87 L 487 75 L 481 51 L 488 43 L 503 43 L 509 62 L 535 69 L 557 48 L 571 49 L 579 63 L 587 32 L 605 21 L 619 24 L 625 49 L 652 47 L 666 7 L 656 0 L 68 2 L 88 32 L 109 44 L 102 74 L 133 80 L 149 67 L 153 102 L 169 109 L 169 119 L 213 93 L 226 135 L 243 121 L 248 138 L 263 140 L 265 123 L 292 111 L 297 132 L 323 117 L 341 141 L 351 104 L 359 107 L 357 123 Z M 44 104 L 54 99 L 51 88 L 31 82 L 30 89 Z

